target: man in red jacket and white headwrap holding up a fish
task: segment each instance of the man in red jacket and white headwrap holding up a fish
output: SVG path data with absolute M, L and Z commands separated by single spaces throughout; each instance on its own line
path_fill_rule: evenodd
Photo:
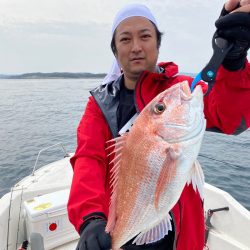
M 229 14 L 234 11 L 244 13 Z M 229 0 L 216 22 L 217 34 L 232 41 L 234 47 L 223 61 L 215 86 L 204 97 L 207 129 L 237 134 L 250 126 L 250 64 L 246 59 L 249 12 L 250 1 Z M 183 80 L 192 82 L 191 77 L 176 75 L 178 68 L 174 63 L 157 65 L 161 33 L 144 5 L 128 5 L 118 12 L 112 32 L 111 48 L 116 60 L 104 84 L 91 91 L 71 159 L 74 177 L 68 214 L 80 234 L 79 250 L 111 248 L 111 237 L 105 232 L 112 191 L 112 158 L 105 150 L 106 141 L 127 130 L 135 114 L 159 92 Z M 205 92 L 206 85 L 200 84 Z M 123 248 L 203 249 L 203 201 L 191 185 L 185 186 L 171 216 L 173 230 L 163 239 L 142 246 L 128 242 Z

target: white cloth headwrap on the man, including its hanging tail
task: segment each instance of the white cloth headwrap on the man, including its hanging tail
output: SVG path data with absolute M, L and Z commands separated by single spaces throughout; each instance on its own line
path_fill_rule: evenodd
M 112 37 L 114 35 L 114 32 L 115 32 L 117 26 L 122 21 L 124 21 L 126 18 L 133 17 L 133 16 L 145 17 L 148 20 L 150 20 L 151 22 L 153 22 L 155 24 L 155 26 L 157 27 L 157 22 L 147 6 L 145 6 L 143 4 L 128 4 L 124 8 L 122 8 L 115 16 L 115 19 L 114 19 L 114 22 L 112 25 Z M 114 58 L 112 66 L 111 66 L 108 74 L 103 79 L 102 84 L 107 84 L 107 83 L 110 83 L 112 81 L 115 81 L 119 78 L 120 75 L 121 75 L 120 66 L 119 66 L 116 58 Z

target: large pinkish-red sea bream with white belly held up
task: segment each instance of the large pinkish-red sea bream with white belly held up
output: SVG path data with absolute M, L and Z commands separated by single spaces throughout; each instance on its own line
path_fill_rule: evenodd
M 172 230 L 170 211 L 186 184 L 203 199 L 204 174 L 197 161 L 206 120 L 203 92 L 187 81 L 148 103 L 129 132 L 112 139 L 109 215 L 105 231 L 112 250 L 156 242 Z M 111 146 L 109 146 L 111 147 Z

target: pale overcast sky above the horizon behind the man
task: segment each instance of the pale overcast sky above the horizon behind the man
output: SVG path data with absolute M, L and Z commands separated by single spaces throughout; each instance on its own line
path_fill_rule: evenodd
M 105 73 L 111 26 L 130 0 L 0 0 L 0 74 Z M 159 61 L 196 73 L 212 55 L 223 0 L 141 0 L 164 33 Z

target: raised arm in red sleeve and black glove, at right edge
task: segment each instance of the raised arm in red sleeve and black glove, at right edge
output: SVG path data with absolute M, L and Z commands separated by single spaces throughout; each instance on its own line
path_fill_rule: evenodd
M 244 6 L 239 4 L 244 2 Z M 216 21 L 217 34 L 233 43 L 204 98 L 207 130 L 239 134 L 250 127 L 250 0 L 229 0 Z

